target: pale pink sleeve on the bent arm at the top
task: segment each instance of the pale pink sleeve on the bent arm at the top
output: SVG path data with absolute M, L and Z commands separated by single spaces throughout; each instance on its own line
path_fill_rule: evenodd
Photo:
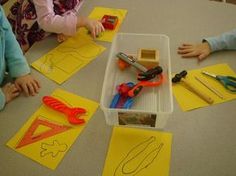
M 53 33 L 63 33 L 72 36 L 76 33 L 77 16 L 72 11 L 63 16 L 56 15 L 52 0 L 33 0 L 39 26 Z

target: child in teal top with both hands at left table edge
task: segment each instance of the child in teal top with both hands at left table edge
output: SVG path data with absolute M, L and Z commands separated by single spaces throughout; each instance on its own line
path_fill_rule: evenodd
M 16 41 L 11 26 L 0 6 L 0 85 L 8 70 L 9 75 L 15 78 L 14 83 L 7 83 L 0 87 L 0 110 L 6 103 L 16 98 L 21 91 L 27 96 L 34 96 L 39 91 L 39 83 L 30 75 L 30 68 Z

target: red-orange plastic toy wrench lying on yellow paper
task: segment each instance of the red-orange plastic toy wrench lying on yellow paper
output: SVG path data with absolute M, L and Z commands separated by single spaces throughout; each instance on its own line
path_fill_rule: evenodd
M 79 118 L 80 116 L 84 115 L 87 112 L 86 109 L 84 108 L 68 107 L 66 104 L 64 104 L 63 102 L 52 96 L 44 96 L 43 103 L 48 107 L 67 115 L 67 119 L 71 124 L 85 123 L 84 119 Z

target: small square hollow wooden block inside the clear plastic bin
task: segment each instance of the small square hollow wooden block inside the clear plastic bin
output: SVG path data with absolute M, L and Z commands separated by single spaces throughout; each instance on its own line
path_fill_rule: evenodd
M 159 50 L 141 48 L 138 51 L 137 62 L 147 68 L 153 68 L 159 65 Z

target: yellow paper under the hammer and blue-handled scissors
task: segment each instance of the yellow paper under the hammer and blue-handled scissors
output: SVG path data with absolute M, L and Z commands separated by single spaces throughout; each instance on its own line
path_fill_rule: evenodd
M 230 75 L 236 77 L 235 72 L 227 64 L 217 64 L 213 66 L 204 67 L 201 69 L 190 70 L 188 71 L 186 79 L 192 85 L 196 86 L 200 91 L 210 96 L 214 100 L 213 104 L 223 103 L 236 98 L 236 93 L 228 91 L 219 81 L 202 74 L 201 73 L 202 71 L 207 71 L 215 75 L 225 75 L 225 76 Z M 173 74 L 173 76 L 174 75 L 175 74 Z M 195 79 L 196 76 L 204 81 L 207 81 L 207 83 L 211 87 L 216 89 L 218 92 L 220 92 L 224 98 L 221 99 L 219 96 L 210 91 L 207 87 L 205 87 L 203 84 L 197 81 Z M 199 98 L 196 94 L 186 89 L 183 83 L 173 84 L 173 93 L 183 111 L 189 111 L 210 105 L 201 98 Z

